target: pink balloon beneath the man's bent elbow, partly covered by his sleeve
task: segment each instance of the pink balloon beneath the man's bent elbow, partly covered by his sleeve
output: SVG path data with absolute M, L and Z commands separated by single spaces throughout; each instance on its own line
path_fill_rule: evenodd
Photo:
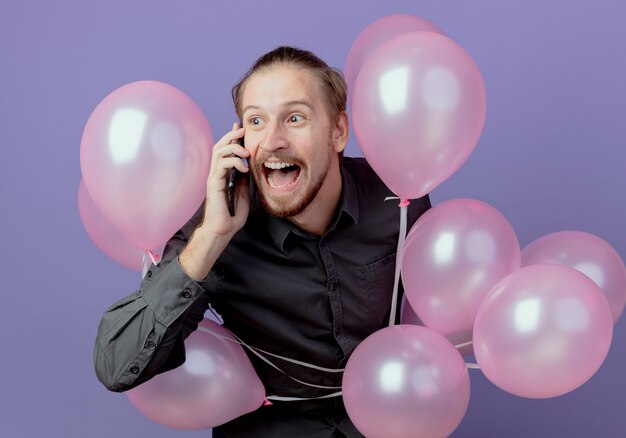
M 234 340 L 222 326 L 205 319 L 185 340 L 183 365 L 126 393 L 151 420 L 174 429 L 206 429 L 262 405 L 265 389 L 242 347 L 203 327 Z

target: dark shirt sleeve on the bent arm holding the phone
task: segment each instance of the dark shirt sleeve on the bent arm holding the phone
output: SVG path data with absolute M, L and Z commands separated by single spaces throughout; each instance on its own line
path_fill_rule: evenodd
M 107 389 L 126 391 L 184 363 L 184 340 L 209 306 L 203 285 L 188 277 L 178 262 L 197 224 L 198 213 L 170 239 L 163 260 L 148 270 L 139 290 L 105 311 L 94 367 Z

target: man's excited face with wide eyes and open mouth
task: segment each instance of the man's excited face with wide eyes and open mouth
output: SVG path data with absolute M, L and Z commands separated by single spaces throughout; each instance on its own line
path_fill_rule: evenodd
M 338 165 L 324 99 L 315 74 L 294 66 L 261 70 L 245 85 L 241 107 L 248 161 L 270 214 L 303 212 L 330 166 Z

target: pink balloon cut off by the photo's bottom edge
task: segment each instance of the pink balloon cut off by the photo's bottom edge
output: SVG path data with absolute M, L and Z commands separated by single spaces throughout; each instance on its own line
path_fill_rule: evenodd
M 461 355 L 425 327 L 396 325 L 366 338 L 343 375 L 350 419 L 369 438 L 446 437 L 469 404 Z

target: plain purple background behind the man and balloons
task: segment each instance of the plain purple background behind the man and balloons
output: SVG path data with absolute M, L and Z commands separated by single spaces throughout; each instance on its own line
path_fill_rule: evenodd
M 623 2 L 2 0 L 0 436 L 210 436 L 152 423 L 94 375 L 99 318 L 139 282 L 78 215 L 79 144 L 95 105 L 128 82 L 168 82 L 219 137 L 235 120 L 230 87 L 257 56 L 291 44 L 343 68 L 359 32 L 397 13 L 439 25 L 487 88 L 480 143 L 434 202 L 489 202 L 522 245 L 576 229 L 626 256 Z M 348 155 L 360 155 L 354 136 Z M 626 436 L 625 340 L 622 318 L 598 373 L 550 400 L 509 395 L 471 370 L 453 436 Z

